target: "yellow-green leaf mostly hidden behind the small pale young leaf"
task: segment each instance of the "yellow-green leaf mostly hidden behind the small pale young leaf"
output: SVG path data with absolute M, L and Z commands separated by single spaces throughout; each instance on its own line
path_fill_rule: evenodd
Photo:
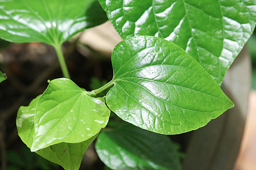
M 29 148 L 32 146 L 35 107 L 39 98 L 40 96 L 32 100 L 28 107 L 20 107 L 17 114 L 16 125 L 19 137 Z M 81 143 L 59 143 L 36 151 L 36 153 L 43 158 L 51 160 L 51 162 L 61 165 L 64 169 L 77 170 L 80 167 L 84 152 L 96 136 Z

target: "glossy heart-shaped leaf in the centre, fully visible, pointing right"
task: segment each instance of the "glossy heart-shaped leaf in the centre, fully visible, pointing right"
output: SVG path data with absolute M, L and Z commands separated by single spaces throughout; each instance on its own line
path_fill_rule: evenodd
M 198 129 L 233 103 L 182 48 L 158 37 L 120 42 L 112 54 L 114 86 L 106 104 L 135 126 L 161 134 Z

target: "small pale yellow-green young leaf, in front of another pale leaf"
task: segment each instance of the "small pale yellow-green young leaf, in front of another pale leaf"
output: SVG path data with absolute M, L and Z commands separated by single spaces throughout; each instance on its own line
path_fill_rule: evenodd
M 108 123 L 110 111 L 100 99 L 88 96 L 69 79 L 49 82 L 36 104 L 31 151 L 67 142 L 79 143 Z

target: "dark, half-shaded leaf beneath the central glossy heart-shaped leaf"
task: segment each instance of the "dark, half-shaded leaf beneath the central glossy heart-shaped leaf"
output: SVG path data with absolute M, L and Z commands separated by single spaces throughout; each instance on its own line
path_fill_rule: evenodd
M 96 151 L 102 162 L 114 170 L 181 169 L 177 151 L 166 135 L 132 125 L 102 131 Z

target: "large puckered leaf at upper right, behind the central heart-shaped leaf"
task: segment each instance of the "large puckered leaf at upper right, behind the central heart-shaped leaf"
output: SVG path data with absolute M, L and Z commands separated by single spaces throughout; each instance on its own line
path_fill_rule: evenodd
M 162 37 L 185 49 L 218 84 L 249 39 L 255 0 L 99 0 L 123 39 Z

